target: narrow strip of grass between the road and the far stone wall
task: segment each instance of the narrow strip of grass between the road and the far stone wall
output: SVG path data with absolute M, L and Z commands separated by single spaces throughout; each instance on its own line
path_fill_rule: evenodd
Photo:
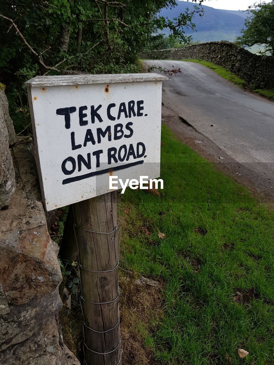
M 213 62 L 202 61 L 201 59 L 181 59 L 181 61 L 199 63 L 203 66 L 206 66 L 210 70 L 213 70 L 218 75 L 225 78 L 226 80 L 228 80 L 230 82 L 233 82 L 233 84 L 239 86 L 240 88 L 248 89 L 252 92 L 255 92 L 255 93 L 257 93 L 261 96 L 266 97 L 267 99 L 274 100 L 274 89 L 268 89 L 268 90 L 266 90 L 266 89 L 254 89 L 250 85 L 248 85 L 246 81 L 242 80 L 241 78 L 239 78 L 238 76 L 236 76 L 232 72 L 228 71 L 224 67 L 214 64 Z

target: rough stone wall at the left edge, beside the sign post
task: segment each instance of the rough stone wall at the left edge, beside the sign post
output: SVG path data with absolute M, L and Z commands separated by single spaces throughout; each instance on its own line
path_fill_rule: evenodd
M 47 229 L 33 141 L 15 137 L 1 90 L 0 142 L 0 364 L 80 365 L 56 321 L 62 275 L 58 245 Z

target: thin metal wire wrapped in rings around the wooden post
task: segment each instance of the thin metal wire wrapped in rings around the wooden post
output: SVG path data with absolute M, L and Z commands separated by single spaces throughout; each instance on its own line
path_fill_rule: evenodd
M 94 273 L 104 273 L 104 272 L 111 272 L 111 271 L 115 270 L 116 268 L 119 268 L 119 256 L 120 256 L 120 245 L 121 245 L 121 227 L 119 229 L 119 238 L 118 238 L 118 261 L 117 261 L 117 264 L 115 265 L 115 267 L 113 269 L 104 270 L 104 271 L 95 271 L 95 270 L 90 270 L 90 269 L 83 268 L 83 266 L 80 263 L 80 258 L 79 258 L 79 245 L 78 245 L 78 241 L 77 241 L 77 236 L 76 236 L 75 228 L 78 228 L 78 229 L 83 230 L 83 231 L 91 232 L 91 233 L 96 233 L 96 234 L 111 234 L 111 233 L 114 233 L 114 232 L 118 232 L 118 227 L 120 225 L 120 209 L 121 209 L 121 193 L 120 192 L 118 193 L 118 196 L 119 196 L 119 204 L 118 204 L 118 224 L 117 224 L 117 226 L 114 227 L 114 229 L 111 232 L 96 232 L 96 231 L 86 230 L 84 228 L 78 227 L 77 224 L 76 224 L 76 219 L 75 219 L 74 206 L 73 206 L 73 209 L 72 209 L 73 210 L 73 218 L 74 218 L 73 231 L 74 231 L 74 235 L 75 235 L 75 241 L 76 241 L 77 253 L 78 253 L 78 262 L 79 262 L 79 264 L 78 264 L 78 276 L 79 276 L 80 291 L 81 291 L 80 300 L 79 301 L 80 301 L 80 307 L 81 307 L 81 313 L 82 313 L 82 318 L 83 319 L 84 319 L 84 311 L 83 311 L 83 306 L 82 306 L 82 300 L 85 301 L 86 303 L 91 303 L 91 304 L 110 304 L 110 303 L 113 303 L 114 301 L 116 301 L 119 298 L 120 288 L 118 287 L 118 295 L 117 295 L 117 297 L 114 300 L 111 300 L 111 301 L 108 301 L 108 302 L 102 302 L 102 303 L 92 302 L 92 301 L 85 300 L 83 298 L 83 296 L 82 296 L 82 283 L 81 283 L 80 269 L 87 270 L 89 272 L 94 272 Z M 119 308 L 119 302 L 117 303 L 117 316 L 118 316 L 118 308 Z M 94 331 L 96 333 L 103 334 L 103 333 L 109 332 L 111 330 L 114 330 L 118 326 L 119 323 L 120 323 L 120 318 L 118 318 L 118 322 L 115 324 L 114 327 L 109 328 L 108 330 L 105 330 L 105 331 L 96 331 L 93 328 L 88 327 L 87 324 L 85 324 L 85 322 L 83 320 L 83 323 L 82 323 L 83 324 L 83 336 L 84 336 L 83 353 L 84 353 L 84 364 L 85 365 L 87 365 L 87 361 L 86 361 L 86 358 L 85 358 L 85 349 L 84 349 L 84 347 L 86 347 L 89 351 L 91 351 L 93 353 L 96 353 L 96 354 L 99 354 L 99 355 L 106 355 L 106 354 L 110 354 L 110 353 L 114 352 L 115 350 L 117 350 L 119 346 L 121 347 L 121 342 L 118 343 L 118 345 L 115 347 L 114 350 L 109 351 L 109 352 L 106 352 L 106 353 L 99 353 L 99 352 L 96 352 L 94 350 L 91 350 L 87 346 L 87 344 L 85 343 L 85 331 L 84 331 L 84 327 L 87 328 L 88 330 Z M 121 362 L 121 359 L 122 359 L 122 349 L 120 349 L 120 350 L 121 350 L 120 351 L 120 359 L 119 359 L 118 363 L 115 364 L 115 365 L 119 365 L 120 362 Z

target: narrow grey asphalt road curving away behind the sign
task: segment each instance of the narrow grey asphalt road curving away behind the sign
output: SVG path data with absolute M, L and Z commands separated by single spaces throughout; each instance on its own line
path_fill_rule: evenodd
M 274 102 L 241 90 L 200 64 L 146 64 L 180 68 L 181 73 L 163 82 L 164 106 L 274 187 Z

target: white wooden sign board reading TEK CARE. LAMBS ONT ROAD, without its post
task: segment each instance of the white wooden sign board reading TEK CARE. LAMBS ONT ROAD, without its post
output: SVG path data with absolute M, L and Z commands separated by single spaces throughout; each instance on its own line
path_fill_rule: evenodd
M 37 76 L 26 82 L 47 211 L 160 175 L 159 74 Z

